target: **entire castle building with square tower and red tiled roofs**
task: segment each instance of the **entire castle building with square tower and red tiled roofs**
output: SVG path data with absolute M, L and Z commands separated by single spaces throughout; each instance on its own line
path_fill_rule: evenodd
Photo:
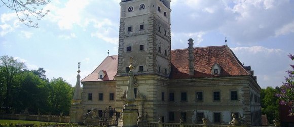
M 83 113 L 122 111 L 133 58 L 138 117 L 156 122 L 229 124 L 231 114 L 261 124 L 261 87 L 227 45 L 171 50 L 170 0 L 122 0 L 118 55 L 81 80 Z M 80 114 L 82 117 L 82 114 Z

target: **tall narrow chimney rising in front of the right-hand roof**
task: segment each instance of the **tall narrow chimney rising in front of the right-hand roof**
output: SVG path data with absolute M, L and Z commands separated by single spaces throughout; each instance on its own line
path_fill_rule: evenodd
M 189 43 L 189 47 L 188 47 L 188 50 L 189 50 L 189 75 L 190 76 L 194 76 L 194 43 L 193 43 L 193 39 L 189 39 L 188 40 Z

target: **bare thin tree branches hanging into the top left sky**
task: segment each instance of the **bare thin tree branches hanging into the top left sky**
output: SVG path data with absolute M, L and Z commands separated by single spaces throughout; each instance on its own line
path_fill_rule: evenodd
M 2 2 L 2 3 L 1 3 Z M 50 3 L 50 0 L 1 0 L 0 7 L 7 7 L 15 11 L 19 20 L 29 27 L 38 27 L 33 19 L 40 20 L 48 14 L 49 10 L 44 11 L 42 6 Z

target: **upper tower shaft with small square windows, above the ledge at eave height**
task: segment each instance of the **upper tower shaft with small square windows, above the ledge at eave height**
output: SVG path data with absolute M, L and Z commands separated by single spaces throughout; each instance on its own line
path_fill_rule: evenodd
M 134 58 L 134 74 L 170 74 L 170 0 L 122 0 L 118 75 L 128 74 Z

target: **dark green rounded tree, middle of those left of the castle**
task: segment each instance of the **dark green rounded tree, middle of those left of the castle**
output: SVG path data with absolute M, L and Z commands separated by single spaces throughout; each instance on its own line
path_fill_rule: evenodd
M 49 85 L 38 75 L 24 71 L 15 77 L 18 86 L 14 110 L 20 112 L 28 108 L 30 114 L 48 111 Z

